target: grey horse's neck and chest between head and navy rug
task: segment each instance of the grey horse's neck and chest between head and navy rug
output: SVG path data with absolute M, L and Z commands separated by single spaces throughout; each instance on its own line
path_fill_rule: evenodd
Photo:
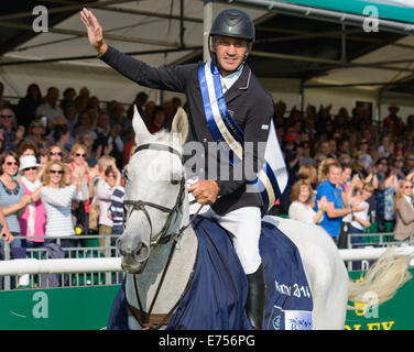
M 179 228 L 188 224 L 189 221 L 187 194 L 185 195 L 182 213 L 183 217 Z M 159 245 L 152 249 L 144 272 L 135 275 L 138 293 L 142 308 L 145 312 L 150 309 L 155 293 L 160 286 L 173 242 L 174 241 L 172 240 L 164 245 Z M 153 314 L 167 314 L 182 297 L 195 265 L 197 246 L 198 242 L 196 234 L 192 227 L 188 227 L 175 246 L 174 254 L 167 266 L 165 278 L 161 285 L 159 296 L 152 310 Z M 140 309 L 135 297 L 137 295 L 132 275 L 127 274 L 126 290 L 129 304 Z

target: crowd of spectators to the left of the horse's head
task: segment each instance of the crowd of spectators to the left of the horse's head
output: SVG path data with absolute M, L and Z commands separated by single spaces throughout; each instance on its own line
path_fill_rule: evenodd
M 121 175 L 134 151 L 132 107 L 155 133 L 168 125 L 179 98 L 156 106 L 141 91 L 124 105 L 102 102 L 86 87 L 62 96 L 48 87 L 43 96 L 32 84 L 13 105 L 3 88 L 0 82 L 0 255 L 4 242 L 18 258 L 56 238 L 67 249 L 83 245 L 81 234 L 100 234 L 99 246 L 103 235 L 121 234 Z

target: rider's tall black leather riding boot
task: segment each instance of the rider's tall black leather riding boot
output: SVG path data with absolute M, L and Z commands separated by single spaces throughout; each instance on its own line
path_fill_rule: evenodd
M 254 330 L 263 329 L 265 280 L 263 263 L 253 274 L 246 275 L 249 284 L 249 294 L 246 302 L 246 312 Z

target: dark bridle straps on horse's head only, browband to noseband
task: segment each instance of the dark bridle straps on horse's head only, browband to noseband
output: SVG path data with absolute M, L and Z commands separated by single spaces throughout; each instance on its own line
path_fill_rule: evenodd
M 164 151 L 164 152 L 168 152 L 168 153 L 175 154 L 175 155 L 177 155 L 179 157 L 179 160 L 181 160 L 181 162 L 183 164 L 183 156 L 182 156 L 182 154 L 179 154 L 176 150 L 174 150 L 173 147 L 171 147 L 168 145 L 156 144 L 156 143 L 142 144 L 142 145 L 140 145 L 140 146 L 137 147 L 137 150 L 135 150 L 134 153 L 138 153 L 138 152 L 143 151 L 143 150 Z M 170 228 L 171 228 L 171 226 L 173 224 L 173 220 L 175 222 L 175 220 L 178 218 L 178 213 L 179 213 L 179 210 L 181 210 L 181 208 L 183 206 L 183 201 L 184 201 L 184 196 L 185 196 L 184 191 L 185 191 L 185 178 L 184 178 L 184 173 L 183 173 L 182 178 L 179 180 L 178 196 L 177 196 L 177 199 L 176 199 L 175 205 L 174 205 L 173 208 L 166 208 L 166 207 L 153 204 L 151 201 L 124 200 L 123 201 L 123 213 L 127 215 L 126 206 L 131 206 L 132 207 L 132 209 L 131 209 L 131 211 L 130 211 L 130 213 L 129 213 L 128 217 L 130 217 L 134 210 L 142 211 L 144 213 L 144 216 L 145 216 L 149 224 L 150 224 L 150 229 L 151 229 L 151 237 L 150 237 L 150 239 L 153 238 L 152 237 L 152 221 L 151 221 L 150 215 L 149 215 L 149 212 L 148 212 L 148 210 L 146 210 L 145 207 L 154 208 L 154 209 L 157 209 L 160 211 L 168 213 L 168 218 L 165 221 L 164 227 L 162 228 L 162 230 L 160 231 L 160 233 L 156 235 L 155 240 L 151 241 L 151 245 L 152 246 L 156 246 L 159 244 L 167 243 L 172 238 L 179 237 L 183 233 L 183 231 L 185 230 L 183 228 L 179 231 L 177 231 L 176 233 L 171 233 L 171 234 L 167 233 L 168 230 L 170 230 Z M 187 227 L 185 227 L 185 228 L 187 228 Z

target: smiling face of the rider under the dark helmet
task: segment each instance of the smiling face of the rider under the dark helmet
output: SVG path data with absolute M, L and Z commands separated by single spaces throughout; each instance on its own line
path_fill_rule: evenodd
M 242 38 L 217 35 L 213 40 L 213 52 L 222 76 L 235 72 L 244 59 L 248 52 L 248 42 Z

